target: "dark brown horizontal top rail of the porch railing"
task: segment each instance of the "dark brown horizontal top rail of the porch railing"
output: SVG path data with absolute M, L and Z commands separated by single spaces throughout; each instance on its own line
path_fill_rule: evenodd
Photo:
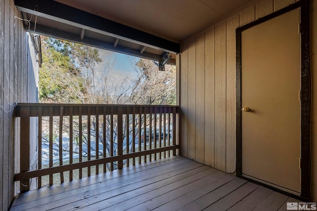
M 52 104 L 52 103 L 18 103 L 16 106 L 15 116 L 21 116 L 22 109 L 28 109 L 30 111 L 30 117 L 38 116 L 50 116 L 50 108 L 53 108 L 52 116 L 60 116 L 60 108 L 63 107 L 63 116 L 78 116 L 79 108 L 82 108 L 81 114 L 88 114 L 88 107 L 90 107 L 90 115 L 116 115 L 118 113 L 118 108 L 123 109 L 123 114 L 139 114 L 139 113 L 178 113 L 179 106 L 171 105 L 116 105 L 116 104 Z M 99 109 L 96 109 L 96 108 Z M 72 109 L 70 109 L 72 108 Z M 111 109 L 112 108 L 112 109 Z

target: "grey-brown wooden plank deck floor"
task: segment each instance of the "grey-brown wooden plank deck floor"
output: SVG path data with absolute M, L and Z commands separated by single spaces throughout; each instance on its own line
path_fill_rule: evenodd
M 11 211 L 283 211 L 286 202 L 299 201 L 174 156 L 20 194 Z

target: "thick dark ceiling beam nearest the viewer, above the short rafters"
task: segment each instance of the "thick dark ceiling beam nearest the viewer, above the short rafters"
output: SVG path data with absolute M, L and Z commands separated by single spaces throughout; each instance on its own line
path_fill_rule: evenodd
M 160 38 L 54 0 L 15 0 L 14 3 L 16 8 L 22 12 L 35 13 L 54 21 L 169 53 L 180 53 L 180 44 L 177 42 Z

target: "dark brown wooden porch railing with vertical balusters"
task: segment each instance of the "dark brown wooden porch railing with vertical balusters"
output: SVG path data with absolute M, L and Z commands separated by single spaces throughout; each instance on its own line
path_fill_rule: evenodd
M 178 106 L 19 103 L 20 172 L 14 180 L 24 192 L 31 178 L 40 188 L 45 177 L 53 185 L 56 178 L 62 183 L 176 155 L 178 112 Z M 37 140 L 30 140 L 31 118 L 38 120 Z M 32 142 L 38 145 L 36 169 L 30 168 Z

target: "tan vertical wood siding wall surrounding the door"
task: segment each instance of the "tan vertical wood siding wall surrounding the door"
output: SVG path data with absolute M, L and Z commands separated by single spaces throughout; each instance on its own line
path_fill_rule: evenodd
M 255 0 L 208 31 L 181 44 L 181 154 L 234 172 L 236 165 L 236 37 L 237 27 L 294 3 Z M 317 198 L 317 0 L 312 0 L 313 196 Z

